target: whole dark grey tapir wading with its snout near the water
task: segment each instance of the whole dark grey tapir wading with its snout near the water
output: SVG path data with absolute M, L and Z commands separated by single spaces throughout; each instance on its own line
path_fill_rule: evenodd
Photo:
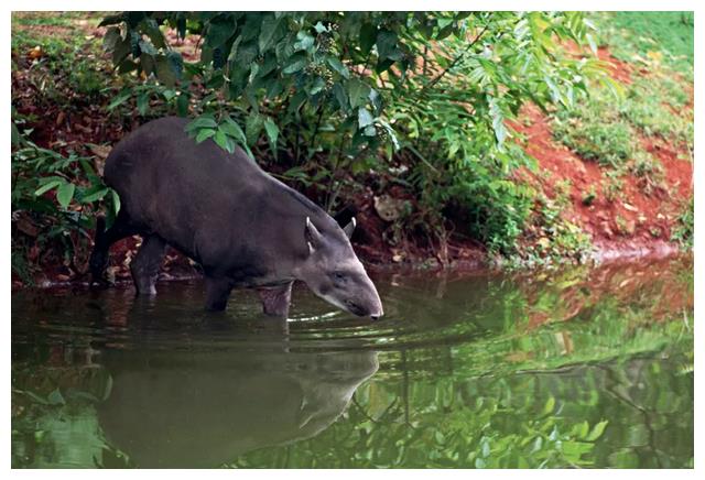
M 292 283 L 300 280 L 344 310 L 382 315 L 377 290 L 350 246 L 354 218 L 340 227 L 242 150 L 229 154 L 210 139 L 197 144 L 186 124 L 175 117 L 153 120 L 110 152 L 105 182 L 121 207 L 107 231 L 98 221 L 94 281 L 102 277 L 110 246 L 140 234 L 130 265 L 138 294 L 155 294 L 170 244 L 203 266 L 208 309 L 225 309 L 234 287 L 254 287 L 265 314 L 285 317 Z

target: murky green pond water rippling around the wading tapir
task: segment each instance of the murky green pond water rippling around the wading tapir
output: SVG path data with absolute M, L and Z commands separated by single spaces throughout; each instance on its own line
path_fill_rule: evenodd
M 692 259 L 375 280 L 378 323 L 13 293 L 12 466 L 693 466 Z

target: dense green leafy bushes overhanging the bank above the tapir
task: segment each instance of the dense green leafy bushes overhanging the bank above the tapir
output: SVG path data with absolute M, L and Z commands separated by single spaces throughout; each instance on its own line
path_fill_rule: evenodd
M 173 91 L 182 114 L 198 114 L 197 141 L 279 159 L 329 209 L 350 173 L 402 184 L 420 201 L 400 221 L 432 243 L 455 208 L 466 225 L 453 228 L 505 252 L 532 201 L 508 177 L 531 160 L 507 120 L 528 100 L 571 106 L 590 78 L 609 81 L 596 59 L 562 54 L 562 41 L 593 43 L 574 12 L 127 12 L 104 23 L 118 70 Z M 202 35 L 200 57 L 184 61 L 162 25 Z M 194 85 L 205 96 L 191 98 Z

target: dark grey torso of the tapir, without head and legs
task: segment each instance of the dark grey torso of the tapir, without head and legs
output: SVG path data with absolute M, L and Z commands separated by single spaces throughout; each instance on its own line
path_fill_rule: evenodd
M 261 264 L 267 257 L 303 254 L 306 217 L 323 230 L 337 229 L 319 207 L 240 149 L 230 154 L 212 140 L 196 143 L 184 131 L 187 122 L 167 117 L 145 123 L 106 162 L 106 183 L 142 230 L 207 266 L 209 259 L 226 264 L 225 257 L 254 255 Z

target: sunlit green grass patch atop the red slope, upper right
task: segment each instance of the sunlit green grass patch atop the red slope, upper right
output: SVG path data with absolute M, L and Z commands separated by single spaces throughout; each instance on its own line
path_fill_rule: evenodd
M 637 65 L 631 83 L 616 94 L 595 86 L 588 98 L 554 114 L 554 138 L 582 159 L 611 167 L 604 182 L 608 200 L 619 195 L 619 176 L 631 174 L 647 195 L 663 184 L 663 166 L 646 151 L 652 138 L 693 151 L 692 15 L 680 12 L 599 13 L 600 44 Z M 692 154 L 686 155 L 692 160 Z

